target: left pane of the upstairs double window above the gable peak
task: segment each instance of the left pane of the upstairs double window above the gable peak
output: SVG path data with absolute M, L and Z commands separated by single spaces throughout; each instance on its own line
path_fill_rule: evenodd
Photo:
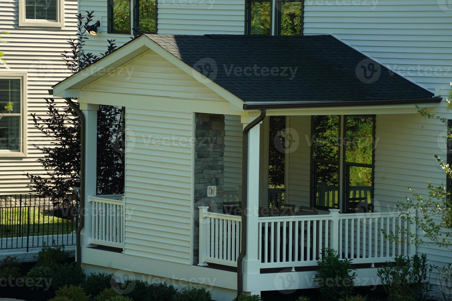
M 108 0 L 108 32 L 130 34 L 130 0 Z

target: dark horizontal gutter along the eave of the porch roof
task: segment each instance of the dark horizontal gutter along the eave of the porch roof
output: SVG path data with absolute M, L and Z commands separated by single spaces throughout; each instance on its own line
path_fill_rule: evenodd
M 379 106 L 379 105 L 403 105 L 415 103 L 437 103 L 442 97 L 407 98 L 393 100 L 360 100 L 360 101 L 328 101 L 328 102 L 255 102 L 244 103 L 243 109 L 283 109 L 283 108 L 308 108 L 308 107 L 350 107 L 350 106 Z

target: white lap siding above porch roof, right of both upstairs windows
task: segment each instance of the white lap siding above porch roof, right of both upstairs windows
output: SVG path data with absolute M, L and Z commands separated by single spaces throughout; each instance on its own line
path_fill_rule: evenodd
M 317 3 L 305 2 L 305 34 L 332 33 L 414 82 L 449 95 L 452 10 L 447 13 L 432 0 Z

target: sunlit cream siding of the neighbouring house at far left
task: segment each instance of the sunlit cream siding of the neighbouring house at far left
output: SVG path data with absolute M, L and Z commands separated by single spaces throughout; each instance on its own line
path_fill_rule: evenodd
M 77 1 L 64 0 L 63 28 L 49 27 L 19 27 L 19 0 L 5 0 L 0 3 L 0 31 L 9 32 L 1 34 L 0 44 L 2 57 L 8 62 L 10 69 L 0 66 L 2 73 L 27 73 L 27 150 L 25 158 L 8 158 L 0 156 L 0 194 L 28 193 L 30 182 L 24 174 L 43 175 L 44 171 L 38 158 L 42 154 L 32 144 L 49 146 L 51 140 L 42 137 L 42 134 L 33 126 L 30 113 L 36 116 L 46 116 L 44 97 L 50 97 L 48 89 L 55 83 L 65 79 L 70 72 L 62 60 L 61 53 L 69 51 L 67 43 L 70 37 L 75 36 L 77 14 Z M 62 105 L 62 99 L 56 98 Z

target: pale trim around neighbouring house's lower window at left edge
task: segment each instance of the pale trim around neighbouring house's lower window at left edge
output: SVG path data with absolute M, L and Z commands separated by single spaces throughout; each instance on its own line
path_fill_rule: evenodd
M 19 151 L 10 151 L 0 149 L 0 158 L 6 157 L 27 157 L 27 72 L 0 72 L 0 79 L 20 79 L 21 89 L 20 89 L 20 147 Z

